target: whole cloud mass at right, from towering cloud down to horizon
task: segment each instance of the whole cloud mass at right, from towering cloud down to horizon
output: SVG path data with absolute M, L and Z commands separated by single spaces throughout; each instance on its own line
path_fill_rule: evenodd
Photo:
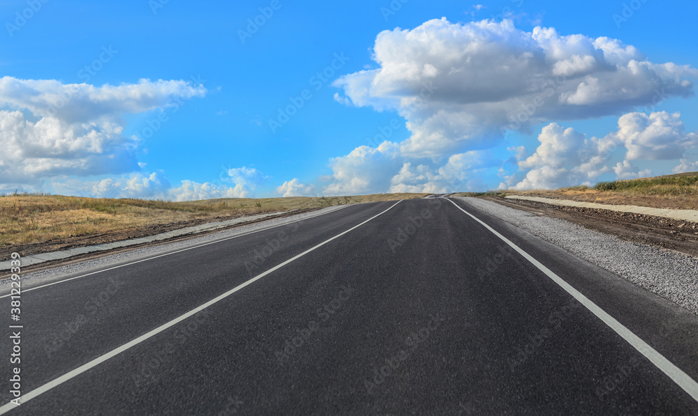
M 503 187 L 557 187 L 648 173 L 634 160 L 683 157 L 682 166 L 693 166 L 686 152 L 696 146 L 695 134 L 683 132 L 680 114 L 655 109 L 690 97 L 698 71 L 653 63 L 620 40 L 544 27 L 526 32 L 510 20 L 443 18 L 383 31 L 373 61 L 378 68 L 338 79 L 335 99 L 397 111 L 410 136 L 330 160 L 326 193 L 482 190 L 497 176 Z M 619 116 L 618 132 L 587 138 L 562 127 L 600 116 Z M 523 157 L 526 148 L 507 141 L 507 133 L 531 134 L 537 125 L 545 125 L 540 146 Z M 512 159 L 493 157 L 489 151 L 498 147 L 511 148 Z M 623 160 L 607 166 L 620 148 Z

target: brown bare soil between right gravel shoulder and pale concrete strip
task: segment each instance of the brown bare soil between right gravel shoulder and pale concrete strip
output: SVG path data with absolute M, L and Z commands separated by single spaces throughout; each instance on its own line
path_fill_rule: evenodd
M 535 201 L 484 197 L 504 206 L 535 215 L 566 219 L 588 229 L 611 234 L 631 242 L 654 245 L 691 256 L 698 256 L 698 223 L 611 210 L 554 206 Z

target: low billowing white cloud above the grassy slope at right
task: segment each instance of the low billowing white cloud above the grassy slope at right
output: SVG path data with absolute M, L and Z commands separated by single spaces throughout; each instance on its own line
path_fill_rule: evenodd
M 616 179 L 651 176 L 651 169 L 640 169 L 634 161 L 680 160 L 674 172 L 698 168 L 690 154 L 698 146 L 698 134 L 685 132 L 681 114 L 660 111 L 652 114 L 630 113 L 618 119 L 618 130 L 605 137 L 586 137 L 572 128 L 551 123 L 538 136 L 535 153 L 521 158 L 517 152 L 518 171 L 507 176 L 500 188 L 519 190 L 550 189 L 571 185 L 591 185 L 604 174 Z M 612 162 L 612 155 L 623 158 Z M 519 177 L 523 179 L 519 180 Z

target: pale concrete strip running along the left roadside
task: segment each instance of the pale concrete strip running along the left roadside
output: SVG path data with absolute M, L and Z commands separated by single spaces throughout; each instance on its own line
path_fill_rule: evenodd
M 69 257 L 78 256 L 80 254 L 87 254 L 87 253 L 93 253 L 93 252 L 103 252 L 105 250 L 110 250 L 110 249 L 129 247 L 132 245 L 139 245 L 139 244 L 143 244 L 145 242 L 168 240 L 169 238 L 186 236 L 189 234 L 197 234 L 197 233 L 202 233 L 205 231 L 213 231 L 213 230 L 217 230 L 217 229 L 223 229 L 223 228 L 231 226 L 231 225 L 242 224 L 243 222 L 255 221 L 258 219 L 273 217 L 275 215 L 280 215 L 280 214 L 284 214 L 284 213 L 253 215 L 251 217 L 239 217 L 239 218 L 234 218 L 234 219 L 228 219 L 225 221 L 208 222 L 206 224 L 188 226 L 188 227 L 184 227 L 183 229 L 168 231 L 167 233 L 155 234 L 153 236 L 147 236 L 147 237 L 141 237 L 141 238 L 134 238 L 133 240 L 121 240 L 121 241 L 114 241 L 114 242 L 105 242 L 103 244 L 98 244 L 98 245 L 90 245 L 87 247 L 76 247 L 74 249 L 61 250 L 60 252 L 32 254 L 31 256 L 23 256 L 22 259 L 20 259 L 20 261 L 22 263 L 22 267 L 26 267 L 28 265 L 45 263 L 46 261 L 68 259 Z M 12 265 L 11 265 L 9 260 L 8 261 L 0 261 L 0 271 L 10 270 L 10 268 L 12 268 Z

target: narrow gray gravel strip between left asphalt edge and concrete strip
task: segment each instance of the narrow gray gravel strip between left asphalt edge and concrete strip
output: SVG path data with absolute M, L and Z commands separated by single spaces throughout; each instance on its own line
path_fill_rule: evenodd
M 166 252 L 176 251 L 178 249 L 184 249 L 186 247 L 193 247 L 195 245 L 200 245 L 206 242 L 211 242 L 215 240 L 221 240 L 222 238 L 229 238 L 233 236 L 239 236 L 240 234 L 249 233 L 251 231 L 257 231 L 260 229 L 267 229 L 271 226 L 278 226 L 281 224 L 288 224 L 290 222 L 298 221 L 299 219 L 305 219 L 310 217 L 316 217 L 318 215 L 323 215 L 326 213 L 331 213 L 334 210 L 346 208 L 343 206 L 332 206 L 327 208 L 322 208 L 321 210 L 315 210 L 310 213 L 303 213 L 299 215 L 292 215 L 290 217 L 269 219 L 263 222 L 256 222 L 254 224 L 249 224 L 245 226 L 239 226 L 234 229 L 220 231 L 218 233 L 210 233 L 206 236 L 200 236 L 191 238 L 188 240 L 181 240 L 177 242 L 170 242 L 161 245 L 154 245 L 150 247 L 141 247 L 138 249 L 129 250 L 126 252 L 115 253 L 108 256 L 102 256 L 96 259 L 89 259 L 85 261 L 80 261 L 76 263 L 71 263 L 68 265 L 59 266 L 57 268 L 50 268 L 47 270 L 40 270 L 38 272 L 27 272 L 22 273 L 22 286 L 37 286 L 38 284 L 45 284 L 47 282 L 52 282 L 66 275 L 80 275 L 81 273 L 89 273 L 99 269 L 107 268 L 111 265 L 117 265 L 119 263 L 128 263 L 129 261 L 138 261 L 140 259 L 145 259 L 147 257 L 156 256 L 158 254 L 164 254 Z M 10 287 L 10 279 L 0 280 L 0 289 Z

